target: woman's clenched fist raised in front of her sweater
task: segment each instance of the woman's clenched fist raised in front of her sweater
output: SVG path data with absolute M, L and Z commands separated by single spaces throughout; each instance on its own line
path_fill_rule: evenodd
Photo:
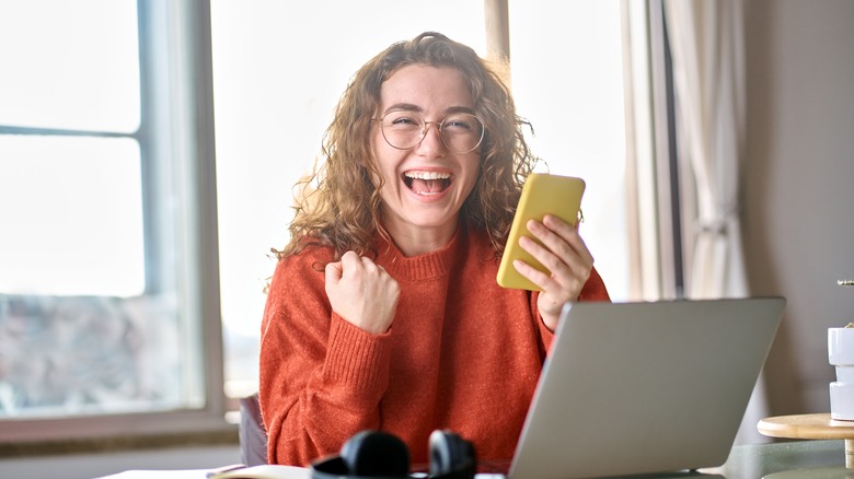
M 367 332 L 389 330 L 401 288 L 383 267 L 347 252 L 341 261 L 326 265 L 325 274 L 332 311 Z

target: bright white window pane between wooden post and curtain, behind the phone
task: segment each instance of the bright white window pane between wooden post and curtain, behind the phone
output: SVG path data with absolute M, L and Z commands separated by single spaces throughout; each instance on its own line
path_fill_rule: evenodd
M 628 300 L 620 2 L 509 2 L 512 89 L 552 173 L 587 182 L 581 234 L 614 301 Z

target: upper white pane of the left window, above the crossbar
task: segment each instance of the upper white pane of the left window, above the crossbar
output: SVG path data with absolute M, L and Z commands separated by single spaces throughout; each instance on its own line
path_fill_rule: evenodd
M 139 126 L 136 0 L 0 2 L 0 125 Z

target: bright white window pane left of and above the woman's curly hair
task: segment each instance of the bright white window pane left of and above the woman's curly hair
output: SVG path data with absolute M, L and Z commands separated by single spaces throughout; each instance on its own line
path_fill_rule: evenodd
M 413 7 L 399 0 L 211 1 L 230 395 L 257 387 L 263 288 L 274 267 L 268 253 L 287 242 L 291 186 L 320 152 L 347 81 L 392 43 L 425 31 L 486 54 L 483 2 Z

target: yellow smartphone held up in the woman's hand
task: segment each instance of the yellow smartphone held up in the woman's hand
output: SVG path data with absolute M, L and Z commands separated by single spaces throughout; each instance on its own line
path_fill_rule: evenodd
M 578 221 L 578 212 L 581 208 L 581 196 L 585 192 L 585 180 L 574 176 L 558 176 L 542 173 L 532 173 L 522 186 L 522 196 L 516 208 L 513 223 L 507 237 L 501 262 L 498 266 L 498 285 L 519 290 L 540 291 L 541 288 L 519 274 L 513 268 L 513 260 L 521 259 L 538 270 L 550 274 L 547 268 L 533 258 L 519 246 L 519 237 L 528 234 L 528 220 L 543 221 L 543 217 L 552 214 L 565 222 L 575 225 Z M 541 243 L 542 244 L 542 243 Z

